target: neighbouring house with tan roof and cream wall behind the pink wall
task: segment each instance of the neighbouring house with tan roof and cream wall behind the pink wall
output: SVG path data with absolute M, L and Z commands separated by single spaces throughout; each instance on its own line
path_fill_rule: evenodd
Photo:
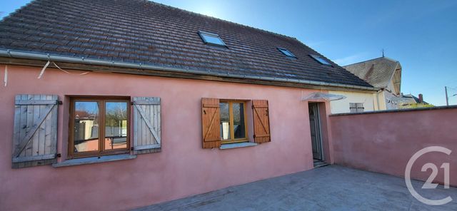
M 373 110 L 400 108 L 401 64 L 391 58 L 382 56 L 368 61 L 343 66 L 358 78 L 378 88 L 376 93 L 363 91 L 329 91 L 329 93 L 346 96 L 341 101 L 332 101 L 332 113 L 358 113 Z

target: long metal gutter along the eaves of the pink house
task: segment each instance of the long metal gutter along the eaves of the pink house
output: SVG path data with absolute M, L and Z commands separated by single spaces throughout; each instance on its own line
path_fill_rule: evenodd
M 206 76 L 219 76 L 219 77 L 229 77 L 229 78 L 244 78 L 244 79 L 253 79 L 253 80 L 262 80 L 262 81 L 279 81 L 279 82 L 288 82 L 288 83 L 303 83 L 308 85 L 316 86 L 333 86 L 341 88 L 354 88 L 367 91 L 378 91 L 378 88 L 366 87 L 366 86 L 354 86 L 341 83 L 327 83 L 321 81 L 308 81 L 308 80 L 298 80 L 298 79 L 287 79 L 287 78 L 273 78 L 273 77 L 262 77 L 262 76 L 248 76 L 248 75 L 239 75 L 239 74 L 230 74 L 230 73 L 215 73 L 211 71 L 196 71 L 189 70 L 184 68 L 169 68 L 164 66 L 153 66 L 153 65 L 144 65 L 141 63 L 126 63 L 118 61 L 106 61 L 93 58 L 84 58 L 84 57 L 74 57 L 74 56 L 56 56 L 46 53 L 36 53 L 31 51 L 16 51 L 8 49 L 0 49 L 1 57 L 9 58 L 24 58 L 31 60 L 41 60 L 41 61 L 55 61 L 55 62 L 66 62 L 66 63 L 81 63 L 86 65 L 96 65 L 96 66 L 113 66 L 118 68 L 137 68 L 151 71 L 169 71 L 176 73 L 191 73 L 199 74 Z

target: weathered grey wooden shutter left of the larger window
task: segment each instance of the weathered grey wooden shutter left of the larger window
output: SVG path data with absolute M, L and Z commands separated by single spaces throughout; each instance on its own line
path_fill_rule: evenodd
M 17 95 L 12 168 L 56 162 L 59 96 Z

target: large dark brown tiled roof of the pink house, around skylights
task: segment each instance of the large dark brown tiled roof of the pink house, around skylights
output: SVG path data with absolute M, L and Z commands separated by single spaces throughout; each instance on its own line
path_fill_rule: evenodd
M 151 1 L 36 0 L 0 31 L 0 48 L 9 50 L 371 87 L 336 63 L 318 63 L 309 54 L 321 54 L 296 38 Z M 202 43 L 199 31 L 219 34 L 228 48 Z

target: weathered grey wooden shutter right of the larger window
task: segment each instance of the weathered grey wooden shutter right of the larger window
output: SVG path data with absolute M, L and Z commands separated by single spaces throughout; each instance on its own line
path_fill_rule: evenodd
M 134 154 L 161 151 L 160 98 L 136 97 L 134 104 Z

